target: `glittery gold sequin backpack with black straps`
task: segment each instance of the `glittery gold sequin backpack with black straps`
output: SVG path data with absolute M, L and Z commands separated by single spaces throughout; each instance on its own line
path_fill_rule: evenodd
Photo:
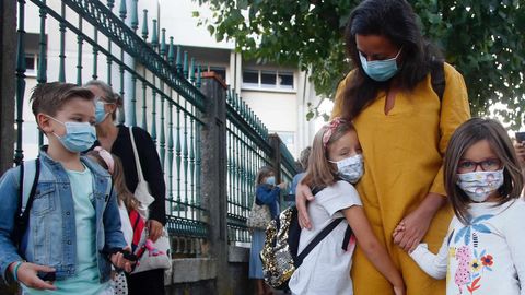
M 314 190 L 317 194 L 322 189 Z M 323 240 L 345 217 L 335 219 L 298 255 L 301 226 L 299 225 L 298 209 L 291 206 L 273 219 L 266 228 L 266 240 L 260 260 L 265 281 L 278 290 L 288 288 L 288 282 L 293 272 L 303 263 L 304 258 Z M 343 248 L 348 245 L 352 229 L 347 227 L 342 241 Z

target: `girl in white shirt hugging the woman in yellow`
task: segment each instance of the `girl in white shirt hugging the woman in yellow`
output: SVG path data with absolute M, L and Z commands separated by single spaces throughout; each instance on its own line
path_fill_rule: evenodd
M 302 180 L 312 189 L 326 188 L 308 203 L 313 228 L 301 232 L 298 252 L 335 219 L 345 217 L 346 221 L 317 244 L 295 270 L 289 282 L 293 294 L 353 294 L 350 269 L 355 240 L 393 284 L 395 293 L 405 294 L 401 275 L 374 236 L 359 194 L 351 185 L 362 174 L 363 158 L 355 129 L 350 122 L 335 118 L 315 135 L 308 168 Z M 355 238 L 343 245 L 348 225 Z

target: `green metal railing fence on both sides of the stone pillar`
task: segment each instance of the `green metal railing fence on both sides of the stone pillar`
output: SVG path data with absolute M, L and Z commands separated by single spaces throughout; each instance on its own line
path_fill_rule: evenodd
M 116 11 L 113 0 L 18 0 L 14 161 L 21 163 L 28 146 L 45 143 L 26 110 L 34 85 L 57 80 L 107 82 L 127 98 L 118 122 L 140 126 L 156 144 L 167 187 L 166 226 L 177 241 L 174 252 L 198 255 L 210 226 L 200 191 L 206 181 L 200 177 L 200 118 L 209 103 L 199 91 L 201 66 L 173 37 L 166 38 L 166 31 L 158 20 L 148 19 L 147 10 L 139 15 L 137 3 L 127 7 L 120 1 Z M 39 17 L 36 27 L 27 21 L 30 15 Z M 30 48 L 28 40 L 34 39 L 37 47 Z M 28 55 L 36 57 L 36 67 L 30 68 L 36 68 L 36 75 L 28 72 Z M 246 216 L 255 176 L 260 166 L 275 164 L 275 149 L 260 119 L 230 90 L 226 117 L 229 239 L 249 241 Z M 35 138 L 27 138 L 30 133 Z M 291 180 L 293 157 L 284 145 L 279 151 L 278 169 Z

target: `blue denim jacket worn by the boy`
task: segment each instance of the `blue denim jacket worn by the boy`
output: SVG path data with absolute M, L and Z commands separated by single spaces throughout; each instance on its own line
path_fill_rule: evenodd
M 77 233 L 74 206 L 67 172 L 40 150 L 40 174 L 35 190 L 30 223 L 20 251 L 25 260 L 55 268 L 57 280 L 75 274 Z M 96 220 L 96 251 L 101 282 L 109 280 L 110 261 L 103 250 L 124 248 L 126 241 L 120 231 L 120 219 L 110 185 L 109 174 L 96 163 L 81 156 L 82 163 L 93 174 L 93 206 Z M 0 179 L 0 273 L 5 279 L 9 264 L 22 257 L 11 239 L 14 215 L 19 205 L 20 167 L 8 170 Z M 112 189 L 113 190 L 113 189 Z

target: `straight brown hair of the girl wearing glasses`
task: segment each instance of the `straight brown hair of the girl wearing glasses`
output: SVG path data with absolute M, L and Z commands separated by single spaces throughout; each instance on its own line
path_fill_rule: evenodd
M 477 142 L 486 140 L 503 165 L 503 185 L 498 189 L 498 205 L 520 198 L 523 189 L 523 176 L 517 156 L 506 130 L 493 119 L 472 118 L 459 126 L 448 142 L 444 158 L 445 190 L 457 219 L 468 224 L 470 199 L 456 185 L 457 165 L 465 152 Z

